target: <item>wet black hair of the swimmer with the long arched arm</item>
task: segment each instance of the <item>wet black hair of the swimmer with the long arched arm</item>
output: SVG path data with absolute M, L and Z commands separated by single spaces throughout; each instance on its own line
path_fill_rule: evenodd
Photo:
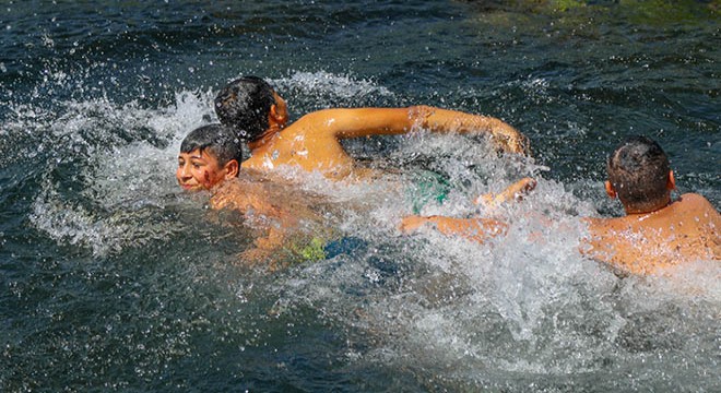
M 240 140 L 252 142 L 268 130 L 274 93 L 273 87 L 258 76 L 239 78 L 217 93 L 215 114 Z

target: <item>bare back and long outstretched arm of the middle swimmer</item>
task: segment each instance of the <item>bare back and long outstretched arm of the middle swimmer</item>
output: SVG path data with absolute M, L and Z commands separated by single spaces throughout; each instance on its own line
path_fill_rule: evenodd
M 499 148 L 513 153 L 525 153 L 528 148 L 528 140 L 518 130 L 486 116 L 426 106 L 324 109 L 303 116 L 251 146 L 252 156 L 241 167 L 269 171 L 288 165 L 305 171 L 318 171 L 334 180 L 351 175 L 367 177 L 371 175 L 369 170 L 356 166 L 341 140 L 398 135 L 419 128 L 432 132 L 487 134 Z

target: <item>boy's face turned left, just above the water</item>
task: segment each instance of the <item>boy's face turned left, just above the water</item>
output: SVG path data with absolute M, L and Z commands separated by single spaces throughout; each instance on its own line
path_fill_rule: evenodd
M 175 172 L 178 184 L 187 191 L 210 190 L 228 177 L 228 168 L 221 166 L 208 150 L 196 148 L 178 155 L 178 170 Z

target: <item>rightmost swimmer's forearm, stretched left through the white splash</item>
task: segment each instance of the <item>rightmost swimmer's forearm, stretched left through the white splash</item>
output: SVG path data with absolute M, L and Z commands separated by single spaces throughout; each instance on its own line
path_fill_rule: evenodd
M 462 236 L 469 240 L 483 243 L 485 240 L 508 230 L 506 223 L 490 218 L 454 218 L 445 216 L 407 216 L 401 222 L 400 229 L 410 234 L 426 224 L 435 225 L 436 229 L 447 236 Z

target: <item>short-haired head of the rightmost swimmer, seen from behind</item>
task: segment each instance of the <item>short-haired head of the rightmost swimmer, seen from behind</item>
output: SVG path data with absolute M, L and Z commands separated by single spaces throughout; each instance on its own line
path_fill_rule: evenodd
M 627 213 L 648 213 L 671 201 L 673 172 L 663 148 L 646 136 L 631 136 L 616 147 L 607 164 L 606 191 Z

